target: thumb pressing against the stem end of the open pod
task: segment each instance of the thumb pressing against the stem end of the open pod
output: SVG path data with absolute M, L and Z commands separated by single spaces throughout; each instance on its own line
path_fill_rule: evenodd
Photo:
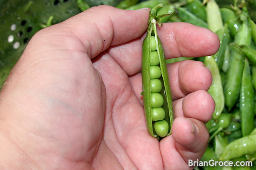
M 48 31 L 52 40 L 58 40 L 60 34 L 76 38 L 81 45 L 69 44 L 67 47 L 82 50 L 93 58 L 111 45 L 128 42 L 145 33 L 149 10 L 131 11 L 112 6 L 96 6 L 57 24 L 55 30 L 49 28 Z M 64 42 L 60 41 L 60 45 L 63 45 Z

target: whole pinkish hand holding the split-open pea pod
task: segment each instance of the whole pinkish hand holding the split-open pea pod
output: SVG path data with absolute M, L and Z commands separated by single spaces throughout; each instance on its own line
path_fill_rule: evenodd
M 160 142 L 146 129 L 141 81 L 149 9 L 93 7 L 39 31 L 0 93 L 2 169 L 192 169 L 215 108 L 204 64 L 168 65 L 175 121 Z M 158 31 L 166 58 L 218 51 L 218 36 L 188 23 Z

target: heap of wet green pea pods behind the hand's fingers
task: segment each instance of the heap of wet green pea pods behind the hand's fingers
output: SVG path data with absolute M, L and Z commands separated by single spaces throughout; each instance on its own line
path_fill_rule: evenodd
M 179 57 L 167 63 L 194 59 L 204 62 L 212 73 L 208 93 L 215 100 L 215 111 L 206 126 L 209 144 L 199 161 L 252 161 L 250 166 L 196 166 L 195 170 L 256 169 L 256 24 L 251 20 L 245 1 L 219 7 L 215 0 L 147 0 L 126 9 L 153 8 L 159 3 L 162 23 L 186 22 L 208 28 L 218 34 L 221 45 L 212 56 Z M 124 4 L 125 1 L 123 1 Z M 245 164 L 244 164 L 245 165 Z

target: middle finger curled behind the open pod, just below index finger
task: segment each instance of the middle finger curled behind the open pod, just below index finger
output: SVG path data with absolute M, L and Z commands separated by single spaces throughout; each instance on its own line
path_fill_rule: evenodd
M 180 99 L 194 91 L 207 91 L 212 84 L 212 75 L 204 64 L 194 60 L 184 60 L 167 65 L 172 99 Z M 141 73 L 130 77 L 134 94 L 143 104 Z

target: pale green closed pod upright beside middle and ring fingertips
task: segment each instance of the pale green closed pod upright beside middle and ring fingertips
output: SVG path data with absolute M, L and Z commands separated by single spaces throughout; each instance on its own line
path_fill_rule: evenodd
M 215 101 L 215 110 L 212 114 L 212 118 L 218 119 L 224 109 L 224 94 L 221 83 L 221 75 L 218 65 L 212 56 L 207 56 L 204 58 L 204 65 L 212 73 L 212 85 L 207 92 L 212 96 Z

